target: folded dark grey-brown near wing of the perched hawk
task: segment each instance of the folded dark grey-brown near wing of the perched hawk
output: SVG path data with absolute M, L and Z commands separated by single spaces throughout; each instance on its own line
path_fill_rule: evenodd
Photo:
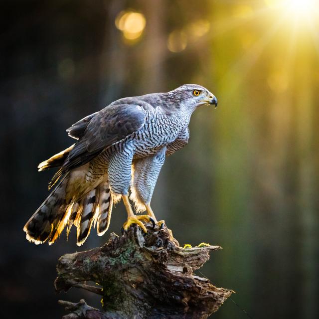
M 52 186 L 66 171 L 81 166 L 99 155 L 104 149 L 114 143 L 120 142 L 134 132 L 138 131 L 145 123 L 145 111 L 135 104 L 109 105 L 103 110 L 93 114 L 88 123 L 81 121 L 74 124 L 74 128 L 86 125 L 84 130 L 68 129 L 69 134 L 79 141 L 70 151 L 69 156 L 61 169 L 54 175 Z M 80 123 L 80 125 L 79 125 Z

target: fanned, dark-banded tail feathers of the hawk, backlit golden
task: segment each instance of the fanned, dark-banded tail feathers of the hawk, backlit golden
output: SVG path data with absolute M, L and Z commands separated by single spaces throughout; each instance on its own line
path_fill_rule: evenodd
M 67 236 L 72 225 L 77 228 L 77 245 L 88 238 L 92 225 L 97 223 L 98 235 L 102 236 L 110 225 L 112 196 L 109 181 L 89 191 L 82 199 L 66 203 L 65 190 L 68 176 L 59 184 L 37 209 L 23 230 L 26 238 L 35 244 L 52 244 L 67 226 Z

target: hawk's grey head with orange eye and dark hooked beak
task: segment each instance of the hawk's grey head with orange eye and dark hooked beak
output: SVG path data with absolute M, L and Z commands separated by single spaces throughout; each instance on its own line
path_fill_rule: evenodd
M 204 104 L 217 107 L 217 98 L 201 85 L 184 84 L 170 93 L 176 94 L 179 103 L 187 107 L 196 108 Z

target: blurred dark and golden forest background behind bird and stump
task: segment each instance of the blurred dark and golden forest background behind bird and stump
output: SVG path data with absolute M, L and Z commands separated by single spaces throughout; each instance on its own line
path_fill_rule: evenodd
M 301 4 L 302 3 L 302 4 Z M 166 160 L 153 209 L 180 244 L 223 247 L 202 272 L 252 318 L 319 318 L 319 3 L 311 0 L 0 2 L 2 318 L 60 318 L 53 246 L 22 227 L 53 172 L 37 164 L 73 143 L 65 129 L 125 96 L 207 87 L 218 108 L 191 119 Z M 200 275 L 200 274 L 199 274 Z M 228 300 L 212 317 L 248 318 Z M 10 315 L 9 315 L 10 314 Z

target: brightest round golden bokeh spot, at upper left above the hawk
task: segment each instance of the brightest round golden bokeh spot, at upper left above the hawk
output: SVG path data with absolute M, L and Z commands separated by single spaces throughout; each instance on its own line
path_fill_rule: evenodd
M 146 18 L 140 12 L 121 11 L 115 19 L 115 26 L 123 32 L 126 40 L 134 41 L 141 37 L 146 26 Z

